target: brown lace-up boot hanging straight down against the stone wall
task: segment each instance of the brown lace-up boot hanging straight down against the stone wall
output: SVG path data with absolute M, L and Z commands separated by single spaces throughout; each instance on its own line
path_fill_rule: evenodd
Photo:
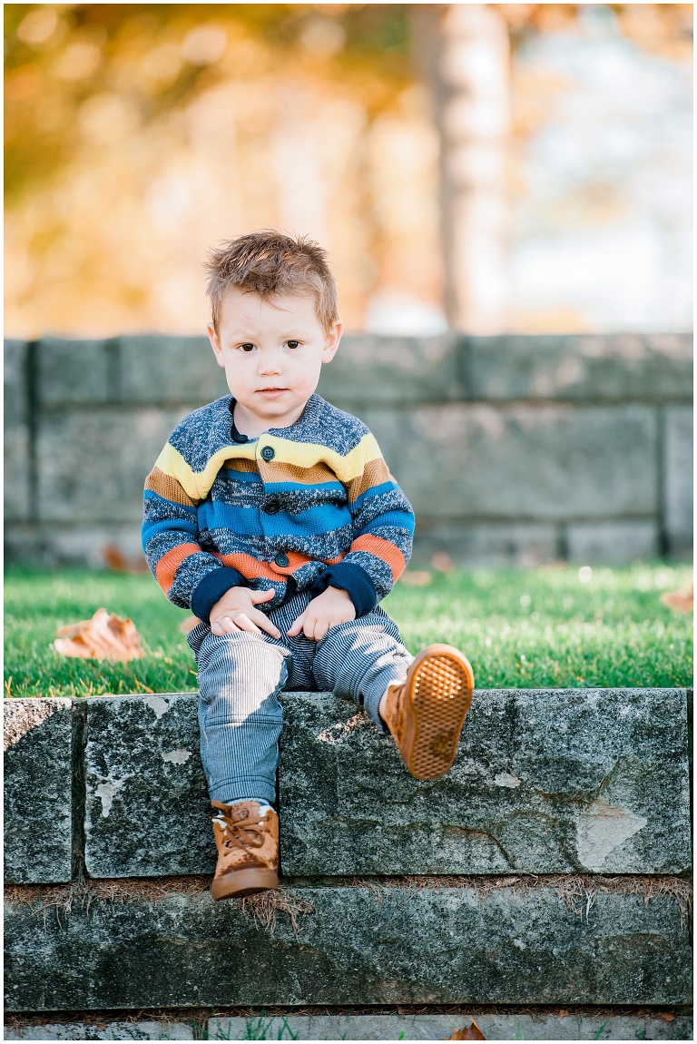
M 233 805 L 212 801 L 219 809 L 213 820 L 218 862 L 211 884 L 214 899 L 251 896 L 279 887 L 279 816 L 272 808 L 261 813 L 258 801 Z

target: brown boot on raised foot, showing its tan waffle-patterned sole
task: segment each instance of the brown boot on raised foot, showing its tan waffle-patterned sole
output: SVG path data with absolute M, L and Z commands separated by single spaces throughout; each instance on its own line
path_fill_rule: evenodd
M 468 660 L 452 645 L 429 645 L 404 682 L 387 686 L 385 723 L 417 780 L 450 770 L 474 687 Z

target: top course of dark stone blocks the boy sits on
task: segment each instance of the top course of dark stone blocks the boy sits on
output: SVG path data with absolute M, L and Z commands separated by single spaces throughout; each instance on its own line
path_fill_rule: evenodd
M 434 782 L 413 779 L 391 738 L 355 705 L 332 693 L 282 699 L 286 876 L 680 874 L 691 865 L 683 689 L 478 691 L 453 769 Z M 75 759 L 92 877 L 213 871 L 196 704 L 188 693 L 76 701 L 87 714 Z M 5 712 L 33 722 L 8 751 L 9 880 L 69 880 L 70 701 L 6 701 Z M 37 793 L 43 801 L 29 809 L 27 794 Z

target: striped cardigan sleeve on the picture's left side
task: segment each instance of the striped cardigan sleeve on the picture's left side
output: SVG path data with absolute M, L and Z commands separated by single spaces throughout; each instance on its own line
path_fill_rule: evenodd
M 201 549 L 197 500 L 176 475 L 168 473 L 167 459 L 166 447 L 145 481 L 143 552 L 169 600 L 208 621 L 216 601 L 244 579 Z

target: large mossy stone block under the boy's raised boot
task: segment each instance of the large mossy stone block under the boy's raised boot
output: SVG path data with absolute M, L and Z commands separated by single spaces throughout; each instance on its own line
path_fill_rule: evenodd
M 424 782 L 328 693 L 286 693 L 287 875 L 674 874 L 691 865 L 684 689 L 475 692 Z

